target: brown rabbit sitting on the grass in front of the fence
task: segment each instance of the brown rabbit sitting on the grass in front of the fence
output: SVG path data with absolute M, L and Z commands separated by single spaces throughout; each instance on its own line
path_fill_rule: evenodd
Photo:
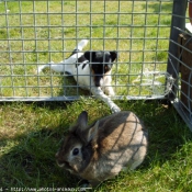
M 59 167 L 97 187 L 124 169 L 135 169 L 147 153 L 148 134 L 140 120 L 122 111 L 88 125 L 88 113 L 77 123 L 56 154 Z

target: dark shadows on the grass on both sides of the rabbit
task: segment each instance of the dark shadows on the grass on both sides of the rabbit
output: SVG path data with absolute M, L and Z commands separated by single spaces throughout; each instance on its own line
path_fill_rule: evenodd
M 82 109 L 83 104 L 79 102 Z M 158 102 L 140 101 L 120 101 L 118 104 L 123 110 L 135 112 L 149 131 L 148 155 L 138 168 L 140 170 L 148 170 L 153 165 L 162 165 L 170 160 L 185 139 L 192 139 L 191 132 L 170 106 L 167 109 Z M 35 104 L 34 113 L 37 108 L 47 108 L 43 113 L 52 115 L 55 109 L 61 106 L 60 103 L 58 105 L 46 103 L 42 106 Z M 70 108 L 66 112 L 68 116 L 65 115 L 65 120 L 56 126 L 42 126 L 34 122 L 33 126 L 38 126 L 35 131 L 15 134 L 14 137 L 4 137 L 0 140 L 0 187 L 10 190 L 11 188 L 76 188 L 78 185 L 79 179 L 58 168 L 55 161 L 55 154 L 60 146 L 64 129 L 69 126 L 67 118 L 74 115 L 74 104 L 68 108 Z M 101 116 L 97 115 L 93 118 L 99 117 Z M 48 117 L 45 121 L 48 123 Z

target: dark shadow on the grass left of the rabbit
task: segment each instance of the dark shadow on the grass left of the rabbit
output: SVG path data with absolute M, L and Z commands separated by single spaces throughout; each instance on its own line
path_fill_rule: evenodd
M 69 188 L 78 183 L 77 178 L 56 165 L 55 154 L 60 139 L 59 133 L 45 127 L 2 140 L 1 147 L 9 143 L 14 147 L 0 158 L 0 187 L 10 191 L 11 188 Z

